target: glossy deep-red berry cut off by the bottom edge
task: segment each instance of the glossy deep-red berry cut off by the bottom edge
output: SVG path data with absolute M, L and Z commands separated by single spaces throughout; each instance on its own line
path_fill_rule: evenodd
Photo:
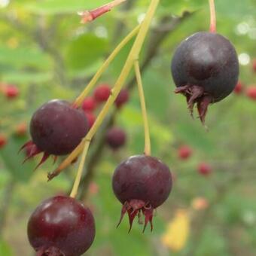
M 95 237 L 90 209 L 72 197 L 45 200 L 29 218 L 29 242 L 38 256 L 80 256 Z

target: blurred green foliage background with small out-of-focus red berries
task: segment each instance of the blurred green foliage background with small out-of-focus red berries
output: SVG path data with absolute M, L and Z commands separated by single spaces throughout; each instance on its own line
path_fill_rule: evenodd
M 26 235 L 32 211 L 48 197 L 69 194 L 78 163 L 47 183 L 56 167 L 48 160 L 23 163 L 17 154 L 29 140 L 29 121 L 50 99 L 72 102 L 106 56 L 145 16 L 149 0 L 128 0 L 93 23 L 81 25 L 77 11 L 108 1 L 0 0 L 0 255 L 35 255 Z M 216 0 L 217 30 L 233 42 L 240 78 L 227 99 L 209 108 L 209 131 L 188 114 L 173 93 L 170 62 L 181 40 L 209 29 L 206 0 L 161 0 L 140 56 L 151 128 L 152 154 L 172 170 L 174 185 L 157 209 L 154 231 L 142 234 L 127 217 L 116 229 L 121 205 L 111 175 L 121 160 L 144 149 L 139 97 L 131 74 L 129 101 L 114 106 L 87 157 L 79 198 L 96 218 L 96 239 L 86 255 L 225 256 L 256 254 L 256 2 Z M 131 44 L 102 76 L 116 81 Z M 102 105 L 88 112 L 91 121 Z M 126 143 L 113 150 L 106 136 L 117 126 Z

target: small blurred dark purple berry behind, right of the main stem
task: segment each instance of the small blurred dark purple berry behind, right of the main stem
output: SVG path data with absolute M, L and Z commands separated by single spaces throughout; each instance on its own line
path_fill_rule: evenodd
M 106 134 L 106 142 L 110 148 L 117 150 L 122 147 L 126 142 L 126 133 L 123 129 L 112 127 Z

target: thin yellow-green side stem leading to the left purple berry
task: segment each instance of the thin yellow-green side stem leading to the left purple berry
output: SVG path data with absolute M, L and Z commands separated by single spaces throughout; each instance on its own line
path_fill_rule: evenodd
M 105 72 L 106 69 L 108 69 L 108 66 L 113 61 L 115 56 L 120 52 L 120 50 L 123 49 L 123 47 L 139 32 L 139 26 L 136 26 L 135 29 L 133 29 L 132 32 L 130 32 L 128 35 L 126 35 L 126 38 L 123 39 L 123 41 L 120 42 L 120 44 L 117 45 L 117 47 L 114 49 L 114 51 L 111 53 L 110 56 L 108 56 L 108 59 L 105 60 L 103 65 L 100 67 L 100 69 L 96 72 L 96 74 L 93 76 L 90 83 L 85 87 L 84 91 L 78 96 L 77 99 L 75 99 L 75 106 L 80 107 L 82 102 L 84 101 L 84 98 L 90 93 L 90 91 L 93 89 L 97 81 L 99 81 L 99 78 Z

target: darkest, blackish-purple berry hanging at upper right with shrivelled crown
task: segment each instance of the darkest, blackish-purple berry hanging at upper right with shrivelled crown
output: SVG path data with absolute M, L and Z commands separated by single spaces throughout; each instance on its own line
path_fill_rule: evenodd
M 172 59 L 175 93 L 186 96 L 191 114 L 197 103 L 202 123 L 208 105 L 227 97 L 238 75 L 235 48 L 227 38 L 212 32 L 197 32 L 182 41 Z

